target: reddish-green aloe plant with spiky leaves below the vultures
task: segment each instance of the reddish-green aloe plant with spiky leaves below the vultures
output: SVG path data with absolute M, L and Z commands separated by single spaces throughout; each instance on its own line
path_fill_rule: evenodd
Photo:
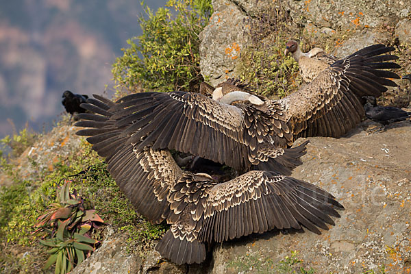
M 90 232 L 104 223 L 95 210 L 88 209 L 76 190 L 70 192 L 70 186 L 71 181 L 66 180 L 60 188 L 58 203 L 51 203 L 36 224 L 36 233 L 49 235 L 40 240 L 42 245 L 51 248 L 43 269 L 55 264 L 55 274 L 68 273 L 95 251 L 99 241 L 90 238 Z

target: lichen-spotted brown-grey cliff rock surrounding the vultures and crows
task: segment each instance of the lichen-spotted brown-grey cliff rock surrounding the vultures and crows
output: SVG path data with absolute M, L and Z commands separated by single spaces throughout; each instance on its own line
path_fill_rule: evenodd
M 241 53 L 256 45 L 251 36 L 256 29 L 247 29 L 276 22 L 267 19 L 267 11 L 286 18 L 286 33 L 276 35 L 275 31 L 284 28 L 273 25 L 269 32 L 262 27 L 260 42 L 266 45 L 279 38 L 283 39 L 279 44 L 299 38 L 344 56 L 383 42 L 397 47 L 401 73 L 411 71 L 410 4 L 216 0 L 210 24 L 201 33 L 201 71 L 211 84 L 237 76 Z M 398 97 L 396 93 L 403 92 L 408 105 L 409 86 L 398 83 L 401 88 L 390 94 Z M 411 124 L 404 121 L 388 126 L 385 132 L 367 134 L 364 129 L 370 124 L 364 121 L 339 139 L 309 138 L 303 164 L 292 173 L 331 192 L 345 206 L 341 217 L 334 219 L 336 225 L 321 235 L 290 229 L 253 234 L 212 247 L 203 264 L 177 266 L 151 249 L 130 252 L 127 235 L 108 225 L 101 247 L 72 273 L 411 273 Z M 73 127 L 55 129 L 47 137 L 54 140 L 53 145 L 39 140 L 23 155 L 29 153 L 45 167 L 52 165 L 53 155 L 67 153 L 67 138 L 71 147 L 78 147 L 80 139 L 74 131 Z M 296 145 L 301 142 L 297 140 Z

